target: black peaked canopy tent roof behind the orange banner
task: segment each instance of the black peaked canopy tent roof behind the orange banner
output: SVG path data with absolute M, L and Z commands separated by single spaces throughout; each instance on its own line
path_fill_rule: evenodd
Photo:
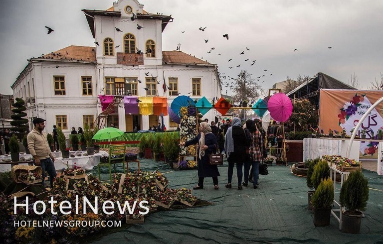
M 319 90 L 320 89 L 353 89 L 356 88 L 347 85 L 329 75 L 324 73 L 318 73 L 310 78 L 310 80 L 304 82 L 288 94 L 290 99 L 306 98 L 309 99 L 312 104 L 315 104 L 317 109 L 319 108 Z

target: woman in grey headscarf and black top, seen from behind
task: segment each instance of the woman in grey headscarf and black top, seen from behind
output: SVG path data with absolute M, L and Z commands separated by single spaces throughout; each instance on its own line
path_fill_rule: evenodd
M 226 188 L 231 188 L 231 178 L 233 177 L 234 164 L 237 167 L 238 190 L 242 190 L 242 166 L 246 158 L 247 140 L 245 131 L 241 126 L 241 120 L 233 118 L 231 126 L 227 129 L 225 135 L 225 152 L 229 167 L 227 168 Z

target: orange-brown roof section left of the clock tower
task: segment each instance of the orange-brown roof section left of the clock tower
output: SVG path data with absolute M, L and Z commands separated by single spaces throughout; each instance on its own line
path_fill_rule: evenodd
M 96 50 L 95 47 L 84 47 L 84 46 L 68 46 L 63 49 L 51 52 L 42 57 L 44 59 L 59 59 L 59 60 L 82 60 L 82 61 L 96 61 Z

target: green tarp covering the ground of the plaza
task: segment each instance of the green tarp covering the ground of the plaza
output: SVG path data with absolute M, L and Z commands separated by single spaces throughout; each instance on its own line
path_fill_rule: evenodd
M 196 170 L 171 171 L 164 162 L 149 159 L 140 163 L 144 171 L 159 168 L 168 172 L 171 188 L 190 189 L 197 182 Z M 306 178 L 293 175 L 289 167 L 270 166 L 268 175 L 260 175 L 258 189 L 249 185 L 239 191 L 235 184 L 232 189 L 224 187 L 225 165 L 219 167 L 219 190 L 214 190 L 211 178 L 206 178 L 204 188 L 193 191 L 198 199 L 213 205 L 154 213 L 144 224 L 94 243 L 383 243 L 383 177 L 375 172 L 363 170 L 372 189 L 361 234 L 352 235 L 340 232 L 334 217 L 328 227 L 314 226 L 314 215 L 307 210 Z M 104 174 L 103 178 L 108 177 Z M 235 168 L 232 182 L 236 182 Z M 339 199 L 339 183 L 337 188 Z

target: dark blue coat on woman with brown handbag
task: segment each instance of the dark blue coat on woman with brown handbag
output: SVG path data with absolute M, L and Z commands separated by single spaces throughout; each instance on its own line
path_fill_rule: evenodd
M 199 133 L 192 140 L 185 142 L 185 146 L 190 146 L 198 143 L 201 134 Z M 205 145 L 207 149 L 205 150 L 205 155 L 199 159 L 197 155 L 197 167 L 198 167 L 198 177 L 215 177 L 219 176 L 218 166 L 209 165 L 209 155 L 215 153 L 216 151 L 217 138 L 213 133 L 208 133 L 205 135 Z M 197 153 L 199 152 L 199 143 L 197 146 Z

